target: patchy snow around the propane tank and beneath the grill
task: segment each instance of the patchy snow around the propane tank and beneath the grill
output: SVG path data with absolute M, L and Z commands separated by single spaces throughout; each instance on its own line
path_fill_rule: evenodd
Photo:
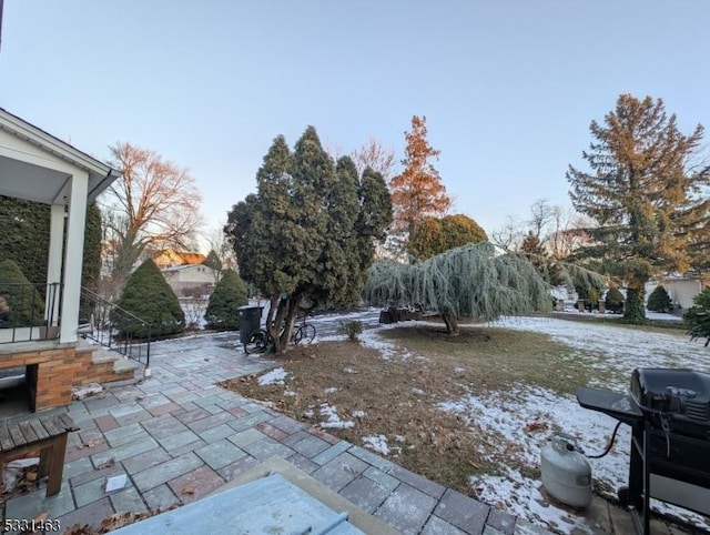
M 551 504 L 540 493 L 540 482 L 524 476 L 518 466 L 539 468 L 540 452 L 552 435 L 562 431 L 571 435 L 588 455 L 601 453 L 617 421 L 605 414 L 581 408 L 571 396 L 561 396 L 540 387 L 519 387 L 486 396 L 467 395 L 440 403 L 443 411 L 464 416 L 485 441 L 489 461 L 505 474 L 474 476 L 470 485 L 488 504 L 505 507 L 510 514 L 542 523 L 560 533 L 595 533 L 584 516 Z M 597 491 L 616 498 L 616 489 L 627 484 L 631 433 L 619 427 L 610 453 L 590 460 Z M 514 462 L 510 463 L 510 460 Z M 601 485 L 600 485 L 601 484 Z M 657 503 L 655 508 L 668 516 L 710 528 L 709 519 L 693 513 Z

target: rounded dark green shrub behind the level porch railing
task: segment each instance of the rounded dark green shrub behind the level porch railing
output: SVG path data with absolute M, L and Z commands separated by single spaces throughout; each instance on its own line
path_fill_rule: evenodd
M 44 299 L 30 284 L 12 260 L 0 263 L 0 322 L 13 326 L 41 325 L 44 321 Z

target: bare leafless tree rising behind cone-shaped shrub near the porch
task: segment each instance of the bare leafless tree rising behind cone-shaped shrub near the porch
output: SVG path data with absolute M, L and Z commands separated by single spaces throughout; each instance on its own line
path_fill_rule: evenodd
M 141 253 L 151 246 L 191 244 L 201 224 L 202 196 L 187 169 L 130 143 L 111 147 L 122 173 L 103 194 L 112 286 L 120 289 Z

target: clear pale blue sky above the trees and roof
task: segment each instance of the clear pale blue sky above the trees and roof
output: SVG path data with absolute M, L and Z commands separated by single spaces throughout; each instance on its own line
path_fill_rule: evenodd
M 620 93 L 710 124 L 708 21 L 707 0 L 4 0 L 0 107 L 100 160 L 129 141 L 190 168 L 214 228 L 277 134 L 399 160 L 426 115 L 453 211 L 490 234 L 569 205 Z

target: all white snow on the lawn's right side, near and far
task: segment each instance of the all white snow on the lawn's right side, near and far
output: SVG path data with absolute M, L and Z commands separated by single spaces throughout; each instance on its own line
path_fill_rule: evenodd
M 575 357 L 611 372 L 605 373 L 604 381 L 590 382 L 592 387 L 626 392 L 636 367 L 690 367 L 710 372 L 710 351 L 701 342 L 690 342 L 676 331 L 646 332 L 547 317 L 509 319 L 496 326 L 549 334 L 569 345 Z M 467 395 L 442 403 L 439 407 L 464 415 L 490 436 L 503 438 L 497 443 L 495 458 L 505 465 L 505 475 L 471 477 L 470 484 L 481 501 L 503 505 L 516 515 L 561 532 L 587 531 L 584 517 L 551 506 L 539 492 L 539 481 L 526 477 L 519 466 L 539 467 L 540 448 L 556 430 L 577 438 L 587 454 L 599 454 L 607 445 L 616 420 L 581 408 L 571 395 L 536 385 L 519 385 L 513 391 L 484 396 Z M 630 435 L 629 426 L 622 425 L 609 455 L 591 461 L 596 489 L 602 495 L 615 498 L 616 489 L 627 484 Z M 653 506 L 667 515 L 710 528 L 707 517 L 661 503 Z

